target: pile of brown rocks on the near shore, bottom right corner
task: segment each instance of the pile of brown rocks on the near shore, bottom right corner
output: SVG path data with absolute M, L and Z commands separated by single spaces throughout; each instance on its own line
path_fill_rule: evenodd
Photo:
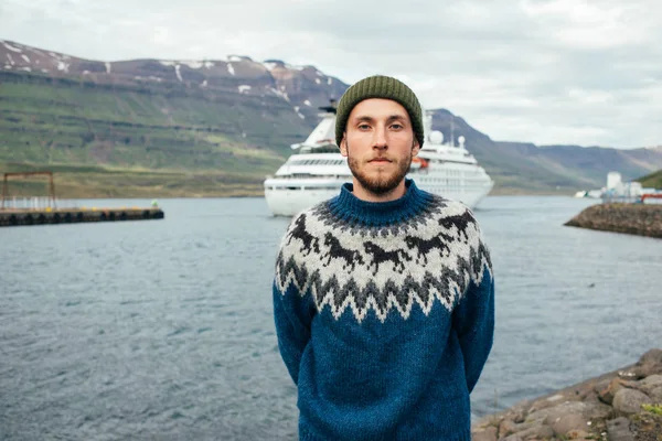
M 662 441 L 662 349 L 472 427 L 472 441 Z

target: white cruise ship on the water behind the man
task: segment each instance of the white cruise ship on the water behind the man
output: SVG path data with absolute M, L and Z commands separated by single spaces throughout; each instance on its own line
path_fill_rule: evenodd
M 320 109 L 324 110 L 320 123 L 305 142 L 291 146 L 296 153 L 265 180 L 265 200 L 275 216 L 295 216 L 352 182 L 348 160 L 335 144 L 335 106 Z M 476 207 L 493 181 L 465 148 L 465 137 L 458 138 L 459 146 L 452 139 L 445 143 L 444 135 L 431 130 L 431 112 L 425 112 L 424 122 L 426 139 L 407 178 L 419 189 Z

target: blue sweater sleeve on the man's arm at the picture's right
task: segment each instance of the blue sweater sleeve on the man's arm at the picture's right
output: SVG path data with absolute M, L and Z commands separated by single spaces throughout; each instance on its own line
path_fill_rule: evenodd
M 478 383 L 494 338 L 494 279 L 489 254 L 482 241 L 479 246 L 479 256 L 473 260 L 474 273 L 452 316 L 465 361 L 465 376 L 469 392 Z M 480 280 L 478 273 L 482 273 Z

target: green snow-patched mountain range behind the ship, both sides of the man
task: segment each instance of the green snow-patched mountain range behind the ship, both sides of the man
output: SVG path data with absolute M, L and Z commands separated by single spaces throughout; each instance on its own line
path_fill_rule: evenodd
M 54 170 L 70 196 L 260 194 L 346 87 L 278 60 L 98 62 L 0 40 L 0 172 Z M 499 142 L 446 109 L 433 126 L 465 136 L 495 192 L 574 193 L 611 170 L 662 169 L 662 148 Z

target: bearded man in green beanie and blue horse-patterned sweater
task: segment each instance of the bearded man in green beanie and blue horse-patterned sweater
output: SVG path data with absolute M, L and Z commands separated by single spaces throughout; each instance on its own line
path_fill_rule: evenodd
M 353 184 L 292 220 L 276 262 L 299 439 L 469 441 L 469 394 L 494 327 L 478 223 L 405 179 L 424 130 L 403 83 L 373 76 L 350 87 L 335 137 Z

